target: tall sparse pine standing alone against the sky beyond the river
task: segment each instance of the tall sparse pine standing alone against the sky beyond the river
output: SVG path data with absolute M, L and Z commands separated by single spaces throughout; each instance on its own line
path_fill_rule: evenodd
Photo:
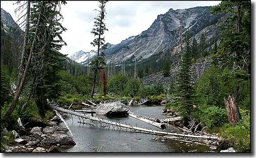
M 103 36 L 105 31 L 108 31 L 108 29 L 106 29 L 106 26 L 105 26 L 105 23 L 104 23 L 105 14 L 106 14 L 106 12 L 105 12 L 106 2 L 108 2 L 108 1 L 99 1 L 99 8 L 100 8 L 100 10 L 98 11 L 99 14 L 96 18 L 94 18 L 95 19 L 95 21 L 94 21 L 94 27 L 95 28 L 93 28 L 93 30 L 91 32 L 96 37 L 93 40 L 93 42 L 91 42 L 91 44 L 93 46 L 98 47 L 97 57 L 90 63 L 92 70 L 94 70 L 93 88 L 92 88 L 92 92 L 91 92 L 91 97 L 93 97 L 93 95 L 94 95 L 94 90 L 95 90 L 96 81 L 97 81 L 97 77 L 98 77 L 98 71 L 101 69 L 100 65 L 101 65 L 101 63 L 105 64 L 104 59 L 101 58 L 99 56 L 99 54 L 100 54 L 100 48 L 105 45 L 104 44 L 105 39 L 102 36 Z

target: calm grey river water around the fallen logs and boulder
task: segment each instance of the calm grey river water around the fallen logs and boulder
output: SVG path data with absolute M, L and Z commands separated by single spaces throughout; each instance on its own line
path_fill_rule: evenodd
M 152 118 L 165 118 L 163 113 L 163 106 L 138 106 L 131 107 L 131 112 L 138 113 L 142 116 L 152 117 Z M 131 124 L 138 127 L 146 127 L 154 130 L 162 130 L 160 128 L 154 127 L 142 121 L 139 121 L 132 117 L 123 118 L 108 118 L 103 115 L 89 114 L 103 118 L 106 120 L 111 120 L 115 122 L 120 122 L 125 124 Z M 74 135 L 75 146 L 66 148 L 67 152 L 94 152 L 95 149 L 102 148 L 100 152 L 182 152 L 188 150 L 197 149 L 198 152 L 203 152 L 209 150 L 207 146 L 196 145 L 186 146 L 184 142 L 175 140 L 153 140 L 156 137 L 151 134 L 130 132 L 125 130 L 113 130 L 102 127 L 95 127 L 90 125 L 84 125 L 77 123 L 79 119 L 73 116 L 66 120 L 72 134 Z M 86 120 L 85 120 L 86 121 Z M 174 125 L 167 125 L 164 131 L 179 130 Z

